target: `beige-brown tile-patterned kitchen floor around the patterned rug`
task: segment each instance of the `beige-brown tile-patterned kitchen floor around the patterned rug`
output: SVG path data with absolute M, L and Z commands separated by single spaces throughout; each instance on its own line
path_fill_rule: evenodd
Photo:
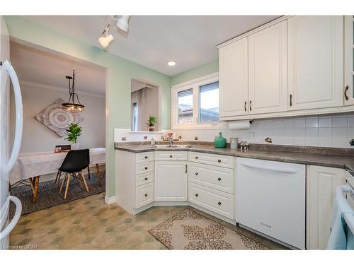
M 11 249 L 166 249 L 148 231 L 186 208 L 152 207 L 131 216 L 118 204 L 105 204 L 104 196 L 96 194 L 21 216 L 10 235 Z M 285 249 L 253 232 L 202 214 L 270 249 Z

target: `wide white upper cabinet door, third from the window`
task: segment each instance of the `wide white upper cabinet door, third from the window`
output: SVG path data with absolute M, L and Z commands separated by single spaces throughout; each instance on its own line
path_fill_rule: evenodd
M 343 16 L 288 20 L 288 110 L 343 106 Z

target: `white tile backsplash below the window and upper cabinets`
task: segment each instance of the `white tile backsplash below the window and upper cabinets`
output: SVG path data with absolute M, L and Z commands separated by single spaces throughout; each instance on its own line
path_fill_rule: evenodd
M 214 141 L 219 131 L 228 142 L 230 137 L 238 137 L 239 141 L 265 143 L 264 139 L 270 137 L 274 144 L 353 148 L 349 141 L 354 139 L 354 114 L 256 119 L 246 130 L 178 130 L 176 133 L 183 140 L 198 136 L 199 141 Z M 250 131 L 254 131 L 253 138 Z

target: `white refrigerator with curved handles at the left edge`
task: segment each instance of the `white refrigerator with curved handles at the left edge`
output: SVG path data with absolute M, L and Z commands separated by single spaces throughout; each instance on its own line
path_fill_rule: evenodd
M 10 196 L 8 192 L 8 172 L 15 165 L 18 153 L 21 148 L 23 112 L 20 84 L 16 72 L 14 71 L 9 59 L 9 38 L 4 18 L 0 16 L 0 249 L 8 247 L 8 235 L 15 227 L 21 216 L 21 201 L 15 196 Z M 9 82 L 13 85 L 13 94 L 16 105 L 16 131 L 13 141 L 11 155 L 8 155 L 8 123 L 9 123 Z M 16 206 L 16 213 L 12 220 L 8 220 L 8 209 L 10 201 Z

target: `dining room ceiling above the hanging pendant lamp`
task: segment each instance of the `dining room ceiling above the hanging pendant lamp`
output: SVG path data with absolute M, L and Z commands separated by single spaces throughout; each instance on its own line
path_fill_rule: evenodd
M 68 90 L 65 76 L 75 70 L 75 89 L 79 92 L 105 95 L 105 69 L 42 52 L 11 42 L 11 64 L 20 81 L 38 83 Z M 68 92 L 69 93 L 69 92 Z

